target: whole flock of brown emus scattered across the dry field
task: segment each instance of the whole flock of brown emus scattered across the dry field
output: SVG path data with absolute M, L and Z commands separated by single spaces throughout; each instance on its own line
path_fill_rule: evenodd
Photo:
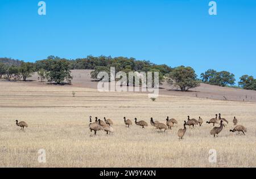
M 126 117 L 123 117 L 123 119 L 125 120 L 125 125 L 127 127 L 130 127 L 133 122 L 131 122 L 130 119 L 126 119 Z M 135 120 L 135 124 L 137 124 L 138 126 L 142 126 L 142 128 L 148 126 L 147 122 L 145 122 L 144 120 L 140 120 L 137 122 L 137 118 L 134 118 Z M 21 127 L 20 130 L 24 130 L 24 127 L 28 127 L 27 123 L 22 121 L 22 122 L 18 122 L 18 120 L 15 120 L 16 122 L 16 126 Z M 210 119 L 209 121 L 207 121 L 208 124 L 212 123 L 213 126 L 214 124 L 220 124 L 220 127 L 214 127 L 211 131 L 210 131 L 210 135 L 213 135 L 214 138 L 215 136 L 218 137 L 218 134 L 220 134 L 220 132 L 222 131 L 222 128 L 225 127 L 225 123 L 229 123 L 228 120 L 221 118 L 221 114 L 216 114 L 215 118 Z M 230 130 L 230 132 L 236 132 L 238 131 L 238 134 L 240 134 L 240 132 L 243 132 L 243 134 L 245 135 L 245 132 L 247 132 L 246 128 L 243 127 L 242 125 L 238 125 L 238 120 L 236 118 L 236 116 L 234 116 L 233 119 L 233 123 L 234 123 L 234 129 Z M 154 121 L 153 118 L 150 119 L 150 124 L 154 127 L 156 127 L 156 129 L 158 130 L 164 130 L 166 131 L 167 129 L 171 129 L 172 127 L 174 127 L 174 124 L 177 124 L 177 120 L 176 119 L 169 119 L 169 117 L 167 116 L 166 119 L 166 124 L 164 123 L 160 123 L 159 121 Z M 189 126 L 189 128 L 195 127 L 196 125 L 200 125 L 202 126 L 203 124 L 203 119 L 199 116 L 199 119 L 190 119 L 188 116 L 188 120 L 187 122 L 184 120 L 184 128 L 180 128 L 177 131 L 177 136 L 179 137 L 179 139 L 183 139 L 185 132 L 187 130 L 186 126 Z M 92 116 L 90 116 L 90 124 L 89 124 L 89 129 L 90 131 L 94 131 L 94 135 L 96 135 L 97 131 L 103 130 L 106 132 L 106 134 L 110 134 L 113 133 L 113 121 L 112 119 L 106 119 L 104 117 L 104 120 L 98 119 L 97 117 L 95 118 L 95 122 L 92 122 Z

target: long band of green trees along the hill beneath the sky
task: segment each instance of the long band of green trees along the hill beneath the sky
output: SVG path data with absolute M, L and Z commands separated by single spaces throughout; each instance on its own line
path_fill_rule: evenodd
M 166 64 L 157 65 L 147 60 L 111 56 L 87 56 L 76 60 L 48 56 L 47 59 L 38 60 L 35 63 L 0 58 L 0 78 L 4 77 L 8 81 L 11 79 L 27 81 L 27 78 L 37 72 L 41 81 L 47 79 L 48 82 L 56 84 L 61 84 L 64 81 L 71 83 L 71 70 L 92 69 L 91 77 L 97 79 L 98 72 L 110 73 L 110 66 L 115 67 L 115 72 L 159 72 L 160 82 L 166 80 L 168 84 L 177 86 L 181 91 L 195 88 L 201 82 L 210 85 L 233 86 L 236 81 L 234 74 L 227 71 L 217 72 L 214 69 L 209 69 L 201 73 L 200 78 L 197 78 L 195 70 L 189 66 L 171 68 Z M 246 74 L 240 77 L 238 85 L 243 89 L 256 90 L 256 79 Z

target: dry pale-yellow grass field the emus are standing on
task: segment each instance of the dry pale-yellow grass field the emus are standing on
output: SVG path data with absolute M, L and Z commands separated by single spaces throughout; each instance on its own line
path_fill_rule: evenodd
M 160 95 L 156 101 L 141 93 L 100 93 L 74 86 L 0 82 L 1 167 L 255 167 L 256 103 Z M 76 96 L 72 97 L 72 91 Z M 206 120 L 221 113 L 229 120 L 218 138 L 210 136 Z M 89 131 L 89 115 L 114 121 L 114 134 Z M 183 140 L 177 130 L 183 121 L 204 119 L 202 127 L 187 127 Z M 142 129 L 127 128 L 123 116 L 146 120 Z M 150 117 L 177 127 L 159 132 Z M 232 119 L 247 127 L 246 136 L 229 132 Z M 14 120 L 28 123 L 19 131 Z M 38 162 L 38 150 L 46 150 L 46 163 Z M 217 163 L 209 163 L 209 149 L 216 149 Z

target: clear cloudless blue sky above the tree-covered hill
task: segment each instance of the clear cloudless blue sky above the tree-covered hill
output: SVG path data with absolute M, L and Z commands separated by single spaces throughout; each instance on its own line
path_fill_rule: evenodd
M 256 77 L 256 1 L 0 0 L 0 57 L 126 56 Z

